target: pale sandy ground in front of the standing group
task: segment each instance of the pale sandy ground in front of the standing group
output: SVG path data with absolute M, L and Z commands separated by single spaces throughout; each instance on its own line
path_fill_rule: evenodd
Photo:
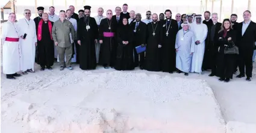
M 254 66 L 255 65 L 256 64 L 254 64 Z M 218 81 L 217 77 L 208 77 L 209 72 L 205 72 L 203 75 L 190 74 L 188 77 L 185 77 L 183 74 L 148 72 L 140 69 L 117 72 L 114 69 L 104 69 L 102 67 L 98 67 L 93 71 L 82 71 L 78 65 L 74 66 L 75 69 L 73 71 L 67 69 L 59 71 L 58 68 L 58 64 L 55 64 L 52 71 L 46 70 L 42 72 L 39 71 L 39 66 L 36 65 L 36 73 L 23 75 L 17 78 L 17 80 L 6 80 L 5 75 L 1 74 L 2 132 L 13 131 L 14 127 L 20 129 L 20 131 L 38 132 L 38 129 L 42 129 L 41 132 L 46 132 L 47 130 L 43 130 L 43 127 L 47 127 L 48 131 L 55 131 L 55 128 L 59 126 L 69 127 L 63 128 L 63 131 L 59 132 L 64 132 L 64 129 L 66 129 L 66 131 L 70 129 L 69 131 L 72 132 L 80 132 L 75 131 L 75 129 L 83 129 L 83 127 L 91 132 L 95 132 L 95 129 L 98 129 L 97 132 L 168 132 L 168 129 L 177 129 L 166 128 L 168 124 L 173 125 L 172 120 L 183 123 L 186 125 L 187 129 L 189 129 L 189 127 L 202 126 L 204 125 L 203 123 L 206 122 L 205 124 L 208 124 L 213 132 L 216 131 L 216 129 L 219 130 L 217 132 L 225 132 L 223 131 L 223 129 L 225 129 L 226 132 L 246 131 L 246 133 L 249 133 L 249 128 L 251 128 L 251 131 L 256 131 L 255 78 L 253 78 L 251 82 L 245 81 L 245 78 L 234 78 L 229 83 L 223 83 Z M 253 77 L 256 77 L 255 67 Z M 196 90 L 198 90 L 198 92 Z M 128 93 L 132 96 L 127 96 Z M 181 96 L 180 94 L 183 93 L 187 95 Z M 213 97 L 209 96 L 211 93 Z M 201 98 L 200 96 L 205 97 Z M 176 102 L 182 104 L 175 104 L 175 100 L 181 97 L 186 99 L 186 101 L 190 101 L 188 105 L 186 105 L 187 108 L 184 108 L 186 107 L 184 106 L 184 101 Z M 198 98 L 189 100 L 189 98 L 192 97 Z M 150 98 L 151 100 L 148 101 L 148 99 L 144 98 Z M 214 98 L 216 98 L 216 102 L 213 102 Z M 195 104 L 196 101 L 198 104 Z M 205 101 L 210 102 L 205 104 Z M 169 104 L 172 108 L 166 107 L 163 102 L 166 102 L 166 104 Z M 151 108 L 147 105 L 151 105 Z M 173 108 L 176 107 L 182 108 L 179 105 L 183 105 L 184 110 L 192 110 L 192 113 L 189 113 L 191 114 L 190 119 L 180 120 L 181 116 L 184 116 L 186 113 L 183 112 L 184 114 L 180 113 L 179 115 L 179 113 L 177 114 L 177 112 L 179 112 L 178 109 L 173 110 Z M 193 105 L 193 107 L 190 105 Z M 66 106 L 69 106 L 69 108 L 66 108 Z M 219 110 L 219 106 L 222 113 L 220 116 L 216 113 Z M 78 109 L 74 107 L 87 107 L 87 109 L 78 111 Z M 88 109 L 88 107 L 90 108 Z M 131 108 L 134 107 L 137 109 L 131 110 Z M 158 110 L 153 108 L 158 108 Z M 153 110 L 145 111 L 145 109 Z M 47 114 L 46 112 L 48 111 L 49 113 Z M 60 113 L 62 111 L 65 111 L 66 114 L 70 114 L 67 115 L 69 117 L 64 117 L 63 114 L 65 113 Z M 168 112 L 172 113 L 169 114 Z M 206 112 L 209 114 L 205 114 Z M 79 120 L 81 120 L 80 117 L 76 116 L 71 118 L 70 116 L 81 113 L 89 114 L 88 117 L 80 116 L 82 118 L 85 117 L 86 122 L 82 121 L 81 123 L 87 123 L 87 126 L 80 125 L 80 128 L 77 128 L 77 124 L 70 125 L 70 123 L 66 123 L 66 126 L 58 125 L 58 123 L 61 122 L 61 119 L 59 119 L 61 115 L 65 118 L 65 122 L 71 121 L 79 123 Z M 198 117 L 200 113 L 202 115 Z M 104 118 L 102 116 L 103 114 L 107 118 Z M 118 115 L 122 117 L 115 117 Z M 149 120 L 149 116 L 151 115 L 154 116 L 154 119 L 151 119 L 153 122 Z M 128 116 L 130 117 L 129 120 L 127 119 Z M 138 120 L 138 116 L 143 116 L 143 119 Z M 205 118 L 209 120 L 205 121 L 205 119 L 202 119 L 202 116 L 205 116 Z M 99 117 L 101 119 L 99 119 Z M 189 117 L 189 115 L 187 117 Z M 195 117 L 198 117 L 198 120 L 196 120 L 195 124 L 192 124 L 193 122 L 190 120 L 194 120 Z M 178 121 L 178 118 L 180 121 Z M 152 126 L 152 128 L 149 128 L 151 130 L 149 130 L 141 124 L 148 122 L 147 126 L 149 126 L 150 123 L 154 123 L 156 119 L 160 120 L 157 121 L 159 125 L 165 126 L 159 126 L 157 129 L 153 128 L 155 126 Z M 105 124 L 104 126 L 104 124 L 99 124 L 102 120 L 103 122 L 112 123 L 108 123 L 107 126 Z M 170 123 L 167 122 L 168 120 L 170 120 Z M 55 128 L 49 126 L 49 123 L 52 121 L 58 126 L 55 126 Z M 137 121 L 140 123 L 137 123 L 136 126 L 134 122 Z M 93 122 L 102 126 L 88 126 L 90 125 L 89 123 Z M 165 123 L 163 124 L 163 122 Z M 117 126 L 117 123 L 121 125 Z M 228 123 L 226 128 L 223 127 L 224 123 Z M 159 128 L 161 130 L 159 130 Z M 15 131 L 16 130 L 13 132 Z M 181 132 L 178 129 L 176 131 Z

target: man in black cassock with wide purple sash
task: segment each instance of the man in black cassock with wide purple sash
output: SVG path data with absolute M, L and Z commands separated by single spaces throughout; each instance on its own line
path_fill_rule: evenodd
M 101 50 L 99 52 L 99 64 L 103 65 L 105 69 L 114 67 L 116 59 L 116 40 L 114 33 L 117 28 L 116 18 L 113 18 L 111 10 L 107 11 L 107 18 L 101 20 L 99 25 L 99 43 L 101 43 Z

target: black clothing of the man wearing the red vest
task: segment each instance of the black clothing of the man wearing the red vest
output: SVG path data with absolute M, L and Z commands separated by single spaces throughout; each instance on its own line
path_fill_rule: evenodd
M 54 25 L 53 22 L 52 26 Z M 54 65 L 54 41 L 51 40 L 48 22 L 42 24 L 42 40 L 37 40 L 37 55 L 39 56 L 38 64 L 41 67 L 51 67 Z

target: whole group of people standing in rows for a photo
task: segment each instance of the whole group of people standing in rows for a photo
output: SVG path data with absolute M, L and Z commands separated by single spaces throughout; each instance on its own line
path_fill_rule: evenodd
M 256 48 L 256 23 L 251 12 L 243 13 L 244 21 L 237 23 L 237 15 L 218 22 L 217 13 L 176 14 L 172 11 L 151 14 L 146 19 L 140 13 L 130 11 L 128 5 L 116 7 L 115 13 L 98 9 L 98 16 L 90 17 L 90 6 L 74 13 L 75 7 L 61 10 L 57 16 L 54 7 L 44 13 L 38 7 L 39 16 L 30 19 L 31 11 L 24 10 L 24 19 L 14 23 L 11 13 L 2 26 L 4 41 L 4 74 L 15 79 L 34 72 L 34 63 L 41 71 L 52 69 L 54 58 L 60 62 L 60 70 L 73 69 L 72 62 L 81 69 L 95 69 L 96 65 L 117 70 L 135 67 L 148 71 L 198 72 L 211 69 L 209 76 L 228 82 L 239 67 L 238 78 L 251 81 L 252 61 Z M 122 11 L 123 10 L 123 11 Z M 166 19 L 164 19 L 166 18 Z M 239 55 L 226 54 L 226 47 L 236 46 Z M 145 49 L 138 52 L 137 49 Z M 36 58 L 36 60 L 35 60 Z M 246 72 L 245 72 L 246 70 Z

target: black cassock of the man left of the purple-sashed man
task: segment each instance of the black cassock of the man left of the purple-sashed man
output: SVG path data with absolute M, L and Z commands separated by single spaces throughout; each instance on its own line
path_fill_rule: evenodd
M 98 39 L 98 26 L 93 17 L 89 17 L 88 20 L 85 20 L 84 17 L 82 17 L 79 20 L 76 38 L 77 40 L 81 41 L 80 68 L 95 69 L 96 68 L 95 40 Z

